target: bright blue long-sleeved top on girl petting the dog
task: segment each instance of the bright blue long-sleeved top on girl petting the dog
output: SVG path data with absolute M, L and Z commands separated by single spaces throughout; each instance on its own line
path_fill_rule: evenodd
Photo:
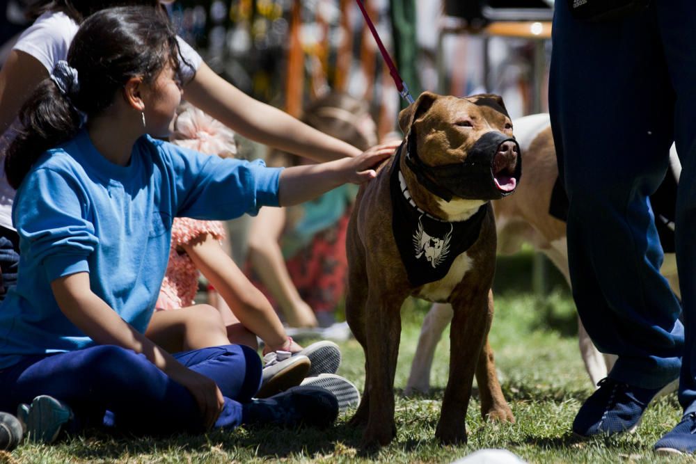
M 0 369 L 23 356 L 95 344 L 63 315 L 50 283 L 88 272 L 90 287 L 143 333 L 166 271 L 175 216 L 222 220 L 278 205 L 280 169 L 141 137 L 128 166 L 86 131 L 42 154 L 17 191 L 19 276 L 0 306 Z

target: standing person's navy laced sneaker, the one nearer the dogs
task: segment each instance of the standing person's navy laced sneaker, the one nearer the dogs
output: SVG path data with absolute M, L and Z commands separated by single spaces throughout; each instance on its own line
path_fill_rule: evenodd
M 662 387 L 634 387 L 608 377 L 597 385 L 599 388 L 580 406 L 575 417 L 573 431 L 577 435 L 635 431 L 648 403 L 662 390 Z

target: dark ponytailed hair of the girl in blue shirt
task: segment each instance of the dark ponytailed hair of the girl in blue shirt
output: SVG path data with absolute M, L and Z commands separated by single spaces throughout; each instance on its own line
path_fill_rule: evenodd
M 23 127 L 5 157 L 10 185 L 18 189 L 40 154 L 74 137 L 84 116 L 110 106 L 129 79 L 152 83 L 167 63 L 179 70 L 179 55 L 168 19 L 155 8 L 110 8 L 88 17 L 68 51 L 79 90 L 63 95 L 52 79 L 45 79 L 19 110 Z

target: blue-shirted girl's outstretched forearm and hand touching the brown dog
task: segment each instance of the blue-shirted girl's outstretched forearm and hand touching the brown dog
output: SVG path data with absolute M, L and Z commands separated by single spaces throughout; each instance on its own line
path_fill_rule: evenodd
M 390 157 L 398 145 L 394 141 L 372 147 L 355 158 L 286 168 L 280 173 L 278 203 L 280 206 L 298 205 L 347 182 L 367 182 L 377 175 L 374 168 Z

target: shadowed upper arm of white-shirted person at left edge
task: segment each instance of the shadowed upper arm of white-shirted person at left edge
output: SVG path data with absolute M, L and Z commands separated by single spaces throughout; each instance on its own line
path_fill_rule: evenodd
M 36 58 L 24 51 L 10 51 L 0 69 L 0 135 L 10 127 L 26 99 L 49 76 Z

